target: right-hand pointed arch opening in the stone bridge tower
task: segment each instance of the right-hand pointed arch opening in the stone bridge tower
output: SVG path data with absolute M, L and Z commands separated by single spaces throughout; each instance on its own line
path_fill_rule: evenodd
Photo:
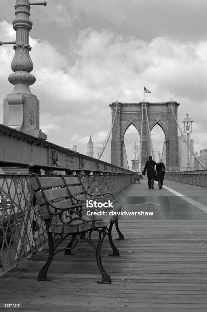
M 151 138 L 153 142 L 155 161 L 158 162 L 159 158 L 162 157 L 162 151 L 163 151 L 164 144 L 166 141 L 166 136 L 165 136 L 164 131 L 162 130 L 162 127 L 158 123 L 154 125 L 150 134 L 151 134 Z M 163 158 L 164 157 L 165 157 L 165 150 L 163 154 Z

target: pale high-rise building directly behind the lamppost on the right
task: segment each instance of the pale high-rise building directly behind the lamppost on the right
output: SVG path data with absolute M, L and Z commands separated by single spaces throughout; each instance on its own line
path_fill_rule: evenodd
M 186 141 L 187 141 L 187 135 L 184 135 Z M 188 146 L 186 142 L 183 140 L 182 136 L 178 136 L 178 146 L 179 146 L 179 171 L 187 170 L 187 161 L 188 161 Z M 189 135 L 189 146 L 194 151 L 194 140 L 191 140 L 191 137 Z M 191 170 L 194 170 L 194 161 L 195 157 L 189 151 L 190 156 L 190 168 Z

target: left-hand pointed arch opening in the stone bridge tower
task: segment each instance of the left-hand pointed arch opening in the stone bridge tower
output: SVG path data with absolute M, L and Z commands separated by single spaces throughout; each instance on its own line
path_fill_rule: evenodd
M 135 162 L 135 153 L 133 146 L 138 146 L 137 153 L 136 153 L 136 162 Z M 139 148 L 140 148 L 140 135 L 138 130 L 134 127 L 133 124 L 130 124 L 129 127 L 126 129 L 124 134 L 124 146 L 126 150 L 126 157 L 129 164 L 129 169 L 133 171 L 138 171 L 139 169 Z M 136 151 L 136 149 L 135 149 Z M 125 157 L 124 157 L 125 158 Z M 124 159 L 125 163 L 125 159 Z M 125 166 L 124 166 L 125 167 Z

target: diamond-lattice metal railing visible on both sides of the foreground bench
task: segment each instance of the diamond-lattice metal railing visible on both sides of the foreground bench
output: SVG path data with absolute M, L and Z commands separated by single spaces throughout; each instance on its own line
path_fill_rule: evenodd
M 0 175 L 0 275 L 9 271 L 47 244 L 45 222 L 33 201 L 29 175 Z M 117 194 L 134 176 L 82 175 L 89 193 Z

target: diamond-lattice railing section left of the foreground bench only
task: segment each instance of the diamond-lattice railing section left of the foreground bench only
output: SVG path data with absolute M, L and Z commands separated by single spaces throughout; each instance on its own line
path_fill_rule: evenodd
M 0 274 L 47 241 L 45 222 L 31 201 L 29 184 L 29 175 L 0 175 Z

